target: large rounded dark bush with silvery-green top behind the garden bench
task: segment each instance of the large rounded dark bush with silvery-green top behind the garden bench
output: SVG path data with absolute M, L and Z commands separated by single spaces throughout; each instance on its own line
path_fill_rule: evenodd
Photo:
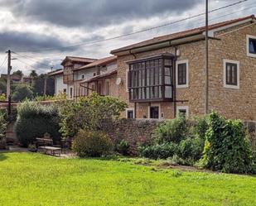
M 33 144 L 36 137 L 48 132 L 54 143 L 60 141 L 60 116 L 56 106 L 24 102 L 17 108 L 16 132 L 23 146 Z

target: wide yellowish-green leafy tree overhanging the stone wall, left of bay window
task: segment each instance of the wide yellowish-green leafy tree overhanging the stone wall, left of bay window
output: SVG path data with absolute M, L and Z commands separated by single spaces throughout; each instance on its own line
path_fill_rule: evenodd
M 80 129 L 109 130 L 114 119 L 119 117 L 126 107 L 127 104 L 118 98 L 103 97 L 97 93 L 75 102 L 66 102 L 60 112 L 60 132 L 65 137 L 74 137 Z

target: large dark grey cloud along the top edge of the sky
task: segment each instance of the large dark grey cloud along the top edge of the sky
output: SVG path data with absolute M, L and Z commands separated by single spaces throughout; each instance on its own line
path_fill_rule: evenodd
M 11 2 L 11 3 L 10 3 Z M 106 26 L 132 19 L 179 14 L 202 0 L 10 0 L 14 16 L 59 26 Z

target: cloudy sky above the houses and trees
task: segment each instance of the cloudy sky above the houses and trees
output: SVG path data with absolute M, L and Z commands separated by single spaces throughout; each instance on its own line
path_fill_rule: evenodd
M 209 0 L 210 10 L 239 0 Z M 66 55 L 101 58 L 110 50 L 187 28 L 204 25 L 205 17 L 163 26 L 136 35 L 103 41 L 205 10 L 205 0 L 0 0 L 0 66 L 5 51 L 16 52 L 13 70 L 47 72 L 61 68 Z M 256 13 L 256 2 L 210 13 L 210 23 Z M 92 43 L 99 41 L 98 43 Z M 74 46 L 80 45 L 82 46 Z M 72 47 L 73 46 L 73 47 Z M 7 64 L 0 67 L 5 72 Z

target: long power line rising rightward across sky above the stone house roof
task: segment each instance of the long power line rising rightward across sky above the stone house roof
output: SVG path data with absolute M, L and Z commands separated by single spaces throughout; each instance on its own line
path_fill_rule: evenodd
M 247 2 L 247 1 L 249 1 L 249 0 L 241 0 L 241 1 L 239 1 L 239 2 L 234 2 L 234 3 L 231 3 L 231 4 L 226 5 L 226 6 L 224 6 L 224 7 L 219 7 L 219 8 L 215 8 L 215 9 L 213 9 L 213 10 L 210 10 L 209 13 L 211 13 L 211 12 L 216 12 L 216 11 L 219 11 L 219 10 L 224 9 L 224 8 L 227 8 L 227 7 L 233 7 L 233 6 L 235 6 L 235 5 L 238 5 L 238 4 L 242 3 L 242 2 Z M 69 49 L 69 48 L 74 48 L 74 47 L 79 47 L 79 46 L 88 46 L 88 45 L 92 45 L 92 44 L 99 43 L 99 42 L 103 42 L 103 41 L 115 40 L 115 39 L 118 39 L 118 38 L 122 38 L 122 37 L 124 37 L 124 36 L 131 36 L 131 35 L 134 35 L 134 34 L 138 34 L 138 33 L 145 32 L 145 31 L 151 31 L 151 30 L 154 30 L 154 29 L 157 29 L 157 28 L 161 28 L 161 27 L 163 27 L 163 26 L 170 26 L 170 25 L 176 24 L 176 23 L 178 23 L 178 22 L 184 22 L 184 21 L 186 21 L 186 20 L 190 20 L 190 19 L 192 19 L 192 18 L 200 17 L 200 16 L 204 16 L 204 15 L 205 15 L 205 12 L 201 12 L 201 13 L 196 14 L 196 15 L 191 16 L 191 17 L 186 17 L 186 18 L 183 18 L 183 19 L 174 21 L 174 22 L 168 22 L 168 23 L 162 24 L 162 25 L 160 25 L 160 26 L 153 26 L 153 27 L 150 27 L 150 28 L 141 30 L 141 31 L 130 32 L 130 33 L 127 33 L 127 34 L 124 34 L 124 35 L 121 35 L 121 36 L 109 37 L 109 38 L 106 38 L 106 39 L 104 39 L 104 40 L 99 40 L 99 41 L 84 42 L 84 43 L 76 44 L 76 45 L 73 45 L 73 46 L 62 46 L 62 47 L 48 48 L 48 49 L 44 49 L 44 50 L 34 50 L 34 51 L 31 51 L 31 53 L 37 53 L 37 52 L 49 51 L 49 50 Z M 28 51 L 19 51 L 19 52 L 24 53 L 24 52 L 28 52 Z M 61 53 L 62 53 L 62 52 L 61 52 Z

